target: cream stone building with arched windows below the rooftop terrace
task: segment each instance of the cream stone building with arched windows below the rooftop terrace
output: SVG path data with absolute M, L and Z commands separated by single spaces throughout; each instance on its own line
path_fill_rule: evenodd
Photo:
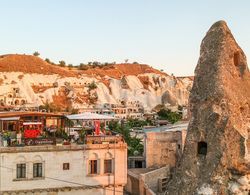
M 117 140 L 117 136 L 113 138 Z M 123 194 L 127 145 L 114 140 L 0 147 L 0 194 Z

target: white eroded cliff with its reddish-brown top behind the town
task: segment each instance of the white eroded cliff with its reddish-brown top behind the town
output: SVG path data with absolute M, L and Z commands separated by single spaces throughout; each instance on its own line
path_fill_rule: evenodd
M 146 109 L 165 103 L 186 105 L 192 77 L 169 76 L 143 64 L 109 64 L 85 70 L 60 67 L 31 55 L 0 57 L 2 106 L 84 108 L 121 100 L 139 101 Z

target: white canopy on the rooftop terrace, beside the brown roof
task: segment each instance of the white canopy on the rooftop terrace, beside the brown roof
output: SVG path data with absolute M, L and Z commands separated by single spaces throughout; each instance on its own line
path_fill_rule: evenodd
M 71 114 L 66 115 L 66 117 L 70 120 L 115 120 L 115 117 L 103 115 L 103 114 L 96 114 L 91 112 L 84 112 L 82 114 Z

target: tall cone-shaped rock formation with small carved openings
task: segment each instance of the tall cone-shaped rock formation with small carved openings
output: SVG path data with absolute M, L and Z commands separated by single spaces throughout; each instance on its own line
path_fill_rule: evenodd
M 192 118 L 168 194 L 250 192 L 250 73 L 227 24 L 201 43 L 190 95 Z

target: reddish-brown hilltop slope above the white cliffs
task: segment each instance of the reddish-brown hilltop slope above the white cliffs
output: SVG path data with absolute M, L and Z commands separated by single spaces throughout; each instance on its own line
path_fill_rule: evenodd
M 77 70 L 60 67 L 47 63 L 43 59 L 32 55 L 9 54 L 0 56 L 0 72 L 23 72 L 37 74 L 58 74 L 65 77 L 79 76 L 80 74 L 109 76 L 119 79 L 124 75 L 138 75 L 144 73 L 164 74 L 146 64 L 114 64 L 104 67 Z

